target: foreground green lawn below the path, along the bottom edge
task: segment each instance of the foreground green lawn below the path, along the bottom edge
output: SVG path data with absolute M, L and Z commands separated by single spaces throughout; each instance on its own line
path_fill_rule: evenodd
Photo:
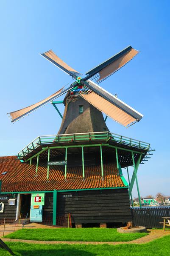
M 6 243 L 16 256 L 168 256 L 170 236 L 156 239 L 147 244 L 85 245 L 85 244 L 26 244 Z M 10 256 L 0 249 L 0 256 Z

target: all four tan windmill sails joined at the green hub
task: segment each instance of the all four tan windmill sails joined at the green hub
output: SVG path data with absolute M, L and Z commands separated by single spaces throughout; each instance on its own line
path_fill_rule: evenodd
M 42 53 L 41 55 L 44 58 L 49 60 L 59 69 L 66 72 L 68 75 L 71 75 L 72 78 L 76 79 L 76 82 L 72 83 L 70 87 L 65 90 L 61 88 L 53 95 L 50 95 L 49 97 L 36 104 L 14 112 L 10 112 L 9 114 L 11 115 L 11 121 L 14 122 L 19 120 L 25 115 L 28 115 L 39 107 L 44 106 L 50 101 L 53 101 L 55 98 L 58 98 L 66 92 L 69 92 L 67 96 L 70 95 L 71 98 L 74 98 L 76 95 L 80 95 L 88 103 L 95 106 L 96 109 L 104 112 L 114 121 L 117 121 L 125 127 L 140 121 L 143 116 L 141 113 L 137 112 L 131 106 L 128 106 L 128 104 L 125 104 L 123 101 L 116 98 L 114 95 L 107 92 L 102 87 L 98 86 L 98 84 L 92 81 L 95 80 L 97 83 L 100 83 L 101 81 L 105 80 L 114 72 L 123 67 L 126 63 L 128 63 L 138 53 L 139 51 L 135 50 L 131 46 L 128 46 L 94 69 L 91 69 L 86 73 L 86 77 L 84 78 L 79 77 L 82 74 L 67 65 L 67 63 L 61 60 L 52 50 Z

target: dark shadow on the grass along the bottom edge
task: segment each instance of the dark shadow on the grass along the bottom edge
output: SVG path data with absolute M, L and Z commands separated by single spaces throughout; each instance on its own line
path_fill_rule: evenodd
M 51 248 L 50 250 L 43 249 L 42 250 L 21 250 L 18 249 L 17 253 L 20 253 L 21 256 L 96 256 L 95 253 L 90 253 L 85 250 L 78 250 L 74 248 L 65 248 L 65 249 L 56 249 Z M 16 254 L 18 255 L 18 254 Z

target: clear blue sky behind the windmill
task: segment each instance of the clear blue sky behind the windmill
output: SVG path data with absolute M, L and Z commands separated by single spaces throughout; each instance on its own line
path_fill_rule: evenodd
M 166 0 L 2 0 L 0 155 L 15 155 L 38 135 L 59 130 L 61 118 L 51 104 L 15 124 L 6 115 L 72 81 L 39 53 L 53 49 L 85 73 L 131 45 L 140 50 L 139 55 L 100 86 L 144 117 L 128 129 L 109 118 L 107 125 L 111 132 L 149 142 L 156 150 L 139 166 L 141 195 L 170 194 L 169 14 L 170 1 Z M 135 187 L 133 196 L 137 196 Z

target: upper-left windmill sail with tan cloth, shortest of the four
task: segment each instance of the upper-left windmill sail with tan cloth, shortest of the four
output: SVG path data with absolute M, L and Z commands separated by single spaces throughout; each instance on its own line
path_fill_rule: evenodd
M 75 69 L 72 69 L 67 63 L 65 63 L 63 60 L 61 60 L 52 50 L 49 50 L 45 53 L 40 53 L 44 58 L 49 60 L 51 63 L 53 63 L 55 66 L 57 66 L 59 69 L 66 72 L 68 75 L 73 76 L 75 79 L 82 75 L 81 73 L 77 72 Z

